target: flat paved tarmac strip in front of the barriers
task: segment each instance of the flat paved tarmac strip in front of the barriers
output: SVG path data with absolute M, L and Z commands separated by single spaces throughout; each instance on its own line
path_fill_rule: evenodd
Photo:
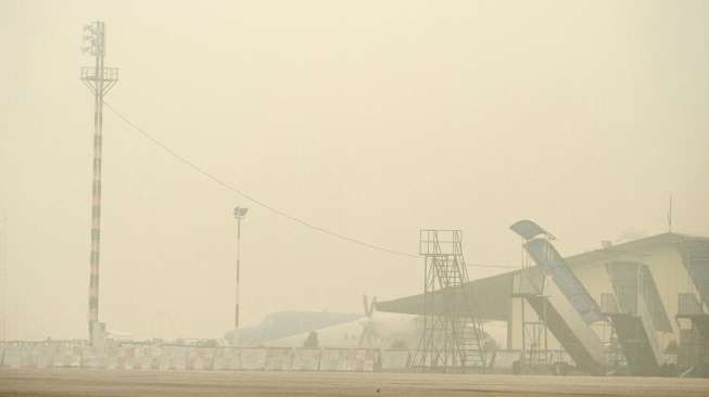
M 709 396 L 709 380 L 0 370 L 0 396 Z

